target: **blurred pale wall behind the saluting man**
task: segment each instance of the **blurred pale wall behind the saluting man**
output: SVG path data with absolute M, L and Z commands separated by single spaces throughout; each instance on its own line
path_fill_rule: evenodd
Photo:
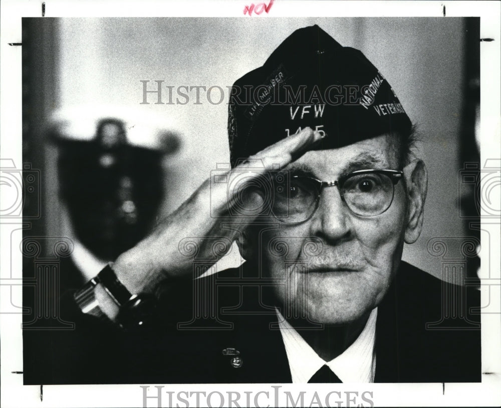
M 463 236 L 458 216 L 459 136 L 463 106 L 464 50 L 467 32 L 459 18 L 291 18 L 291 19 L 57 19 L 57 52 L 52 81 L 57 92 L 51 108 L 112 104 L 156 112 L 181 131 L 182 148 L 164 161 L 167 214 L 209 176 L 216 163 L 228 162 L 227 91 L 210 104 L 194 91 L 186 105 L 156 105 L 143 100 L 141 80 L 149 90 L 155 80 L 166 86 L 226 89 L 261 66 L 294 30 L 318 24 L 343 46 L 360 49 L 392 85 L 422 138 L 419 151 L 429 170 L 424 229 L 406 245 L 404 259 L 441 276 L 441 259 L 426 250 L 436 236 Z M 471 33 L 470 33 L 471 34 Z M 48 56 L 47 58 L 50 58 Z M 300 57 L 298 57 L 300 58 Z M 219 93 L 214 91 L 217 102 Z M 174 95 L 175 100 L 175 95 Z M 182 100 L 182 99 L 181 99 Z M 46 231 L 64 235 L 54 169 L 57 152 L 47 145 L 44 184 Z

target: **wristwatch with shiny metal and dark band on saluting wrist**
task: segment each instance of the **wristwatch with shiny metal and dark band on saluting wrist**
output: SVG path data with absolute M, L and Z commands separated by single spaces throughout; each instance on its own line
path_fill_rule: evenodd
M 125 330 L 136 330 L 148 326 L 155 308 L 155 296 L 148 293 L 131 294 L 120 282 L 113 271 L 113 263 L 108 263 L 97 276 L 87 282 L 74 295 L 75 301 L 83 313 L 110 321 L 99 307 L 95 296 L 95 287 L 100 283 L 106 293 L 118 305 L 119 312 L 115 323 Z

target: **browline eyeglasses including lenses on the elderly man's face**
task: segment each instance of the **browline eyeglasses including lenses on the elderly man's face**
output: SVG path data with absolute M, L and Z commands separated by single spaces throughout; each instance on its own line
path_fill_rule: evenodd
M 336 181 L 308 176 L 275 177 L 271 213 L 280 221 L 296 224 L 310 219 L 317 210 L 320 194 L 336 186 L 349 210 L 362 217 L 384 213 L 393 202 L 395 185 L 402 178 L 398 170 L 358 170 Z

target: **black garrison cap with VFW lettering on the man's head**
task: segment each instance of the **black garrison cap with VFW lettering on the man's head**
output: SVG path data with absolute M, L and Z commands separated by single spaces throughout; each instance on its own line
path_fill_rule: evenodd
M 262 67 L 233 84 L 231 165 L 307 126 L 326 132 L 323 149 L 412 128 L 378 69 L 317 25 L 296 30 Z

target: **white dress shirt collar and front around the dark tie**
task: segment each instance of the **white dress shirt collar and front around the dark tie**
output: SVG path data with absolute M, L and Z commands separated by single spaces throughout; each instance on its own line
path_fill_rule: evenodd
M 343 353 L 327 362 L 315 352 L 278 310 L 277 314 L 289 359 L 292 382 L 308 382 L 324 364 L 329 366 L 342 382 L 374 382 L 377 307 L 372 310 L 357 339 Z

